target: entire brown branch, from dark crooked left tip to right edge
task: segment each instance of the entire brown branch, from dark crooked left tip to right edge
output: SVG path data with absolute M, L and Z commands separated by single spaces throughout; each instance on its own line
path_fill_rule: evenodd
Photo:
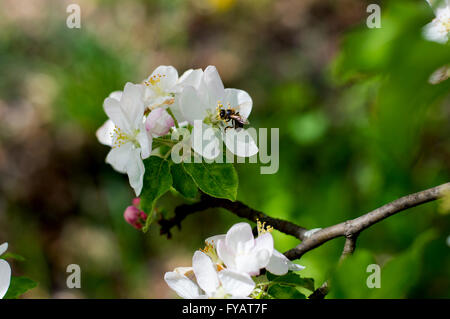
M 434 201 L 449 191 L 450 183 L 445 183 L 418 193 L 403 196 L 365 215 L 321 229 L 310 236 L 305 236 L 305 233 L 307 232 L 306 228 L 294 223 L 278 218 L 272 218 L 239 201 L 232 202 L 227 199 L 214 198 L 206 194 L 202 194 L 201 200 L 195 204 L 178 206 L 175 209 L 174 217 L 170 219 L 162 218 L 158 223 L 161 225 L 161 234 L 166 234 L 170 238 L 170 230 L 175 226 L 181 228 L 181 222 L 190 214 L 208 208 L 225 208 L 239 217 L 246 218 L 253 222 L 256 222 L 257 220 L 266 222 L 267 225 L 272 226 L 274 229 L 300 239 L 302 241 L 301 244 L 284 253 L 285 256 L 291 260 L 300 258 L 306 252 L 321 246 L 329 240 L 337 237 L 345 237 L 344 248 L 339 259 L 339 262 L 341 263 L 347 256 L 353 254 L 356 248 L 356 240 L 361 231 L 401 211 Z M 327 280 L 308 298 L 323 299 L 328 294 L 328 291 L 329 281 Z

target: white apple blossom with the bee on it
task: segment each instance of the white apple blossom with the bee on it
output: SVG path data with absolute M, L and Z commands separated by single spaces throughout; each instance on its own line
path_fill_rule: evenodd
M 184 87 L 179 103 L 184 119 L 194 125 L 192 148 L 198 154 L 207 159 L 216 158 L 220 154 L 221 140 L 240 157 L 253 156 L 258 152 L 258 147 L 246 130 L 235 130 L 218 116 L 218 110 L 232 108 L 247 120 L 253 102 L 243 90 L 225 89 L 214 66 L 205 69 L 197 87 Z

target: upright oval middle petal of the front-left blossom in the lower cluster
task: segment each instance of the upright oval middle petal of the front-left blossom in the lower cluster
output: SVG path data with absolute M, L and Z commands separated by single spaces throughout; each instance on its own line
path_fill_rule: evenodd
M 211 258 L 201 251 L 196 251 L 192 258 L 192 268 L 194 268 L 197 283 L 208 295 L 214 293 L 219 287 L 219 277 Z

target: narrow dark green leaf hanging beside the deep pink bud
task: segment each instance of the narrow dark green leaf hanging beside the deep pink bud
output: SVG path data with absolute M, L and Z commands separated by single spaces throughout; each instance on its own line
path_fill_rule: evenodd
M 158 156 L 150 156 L 144 161 L 144 187 L 141 194 L 141 208 L 148 214 L 142 231 L 145 233 L 153 221 L 155 203 L 172 186 L 169 162 Z

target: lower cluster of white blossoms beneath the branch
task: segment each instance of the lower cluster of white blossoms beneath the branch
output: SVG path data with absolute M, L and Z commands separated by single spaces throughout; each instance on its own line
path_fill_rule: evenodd
M 164 280 L 185 299 L 256 297 L 254 278 L 262 269 L 284 275 L 305 268 L 274 248 L 271 230 L 258 221 L 254 238 L 248 223 L 235 224 L 226 234 L 206 239 L 206 247 L 194 253 L 192 266 L 175 268 Z

